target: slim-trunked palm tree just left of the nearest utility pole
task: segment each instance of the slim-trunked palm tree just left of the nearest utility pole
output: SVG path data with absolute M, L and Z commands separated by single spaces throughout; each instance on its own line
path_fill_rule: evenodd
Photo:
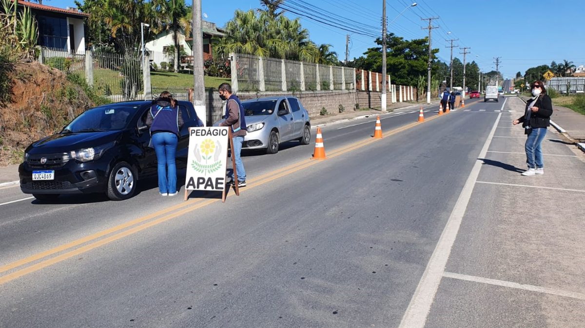
M 185 0 L 158 0 L 155 3 L 156 8 L 160 11 L 160 18 L 163 20 L 163 26 L 173 32 L 174 42 L 174 70 L 177 72 L 179 67 L 179 58 L 181 58 L 181 47 L 179 34 L 181 30 L 184 35 L 191 33 L 192 13 L 189 7 L 185 5 Z

